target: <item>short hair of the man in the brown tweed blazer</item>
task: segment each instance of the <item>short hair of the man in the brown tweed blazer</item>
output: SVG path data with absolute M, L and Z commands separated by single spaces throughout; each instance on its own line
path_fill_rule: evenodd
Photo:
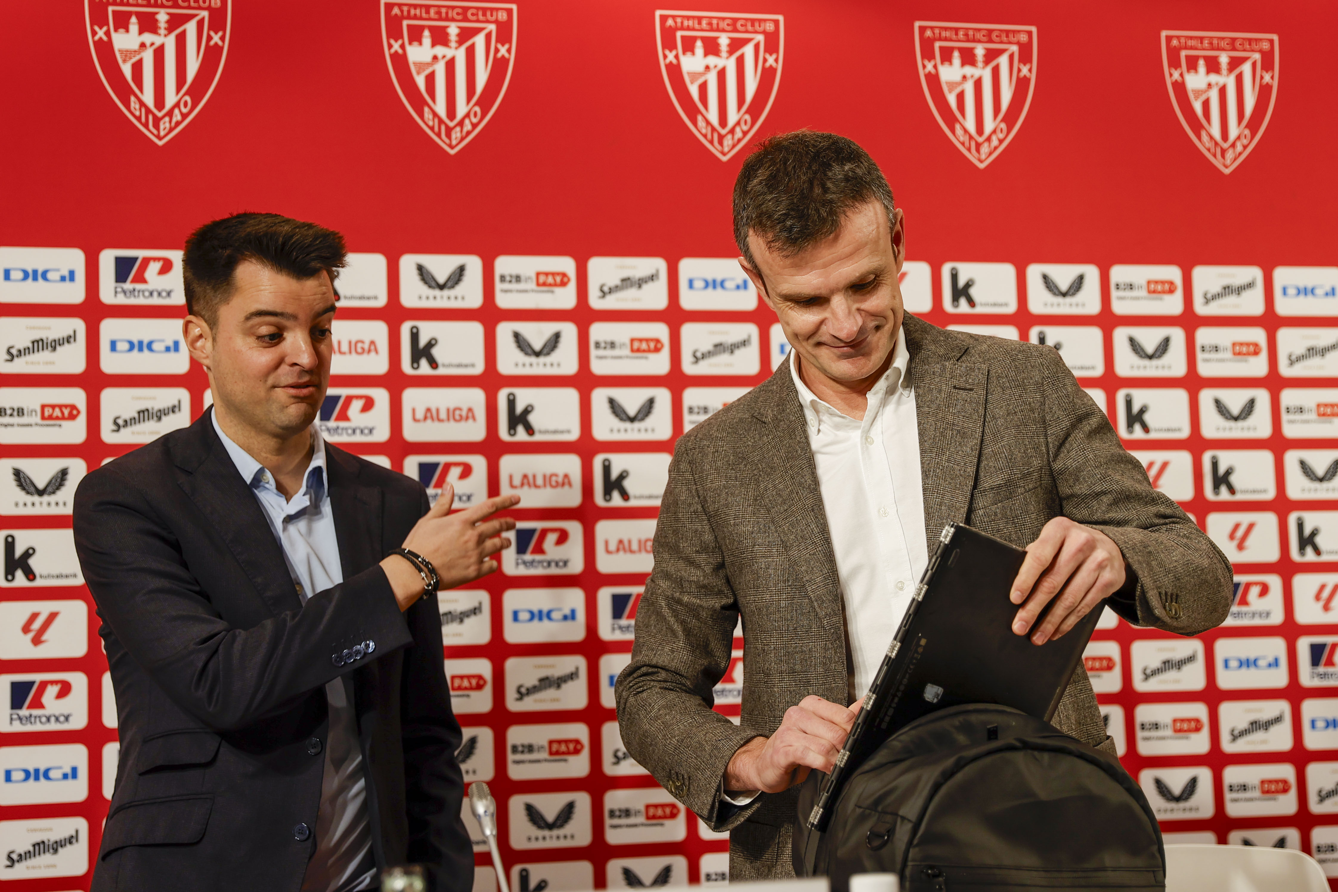
M 785 257 L 831 238 L 846 214 L 880 202 L 895 218 L 892 190 L 868 152 L 836 134 L 796 130 L 768 136 L 735 181 L 735 242 L 753 269 L 753 233 Z

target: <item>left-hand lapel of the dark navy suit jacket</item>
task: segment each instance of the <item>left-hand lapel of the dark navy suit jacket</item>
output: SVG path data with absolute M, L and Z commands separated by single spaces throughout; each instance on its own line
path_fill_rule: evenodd
M 213 409 L 191 425 L 194 435 L 179 453 L 177 467 L 187 472 L 178 484 L 227 543 L 272 614 L 302 606 L 288 572 L 274 531 L 214 433 Z

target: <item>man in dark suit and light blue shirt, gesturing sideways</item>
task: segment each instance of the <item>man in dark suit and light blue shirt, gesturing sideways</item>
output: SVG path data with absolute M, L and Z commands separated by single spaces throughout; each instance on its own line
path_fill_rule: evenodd
M 404 863 L 472 887 L 436 587 L 496 570 L 516 499 L 451 515 L 324 441 L 344 258 L 276 214 L 197 230 L 185 340 L 214 405 L 75 496 L 120 730 L 96 892 L 345 892 Z

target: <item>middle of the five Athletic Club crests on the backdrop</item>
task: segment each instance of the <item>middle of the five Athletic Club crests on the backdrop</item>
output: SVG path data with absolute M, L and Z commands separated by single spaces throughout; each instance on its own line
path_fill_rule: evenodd
M 785 60 L 785 17 L 656 9 L 656 44 L 682 122 L 727 160 L 771 111 Z

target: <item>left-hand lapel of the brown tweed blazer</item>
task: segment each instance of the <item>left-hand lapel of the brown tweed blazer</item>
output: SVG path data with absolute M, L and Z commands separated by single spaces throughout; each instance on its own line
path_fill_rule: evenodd
M 843 641 L 836 558 L 789 366 L 781 364 L 757 391 L 761 399 L 755 403 L 753 415 L 763 421 L 752 463 L 757 492 L 823 626 L 836 641 Z

